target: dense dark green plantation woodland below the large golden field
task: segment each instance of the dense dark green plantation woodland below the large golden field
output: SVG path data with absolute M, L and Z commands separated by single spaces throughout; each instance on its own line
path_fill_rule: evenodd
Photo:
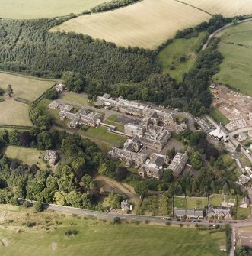
M 0 20 L 0 68 L 53 78 L 74 71 L 105 84 L 139 82 L 160 70 L 150 50 L 48 31 L 65 20 Z

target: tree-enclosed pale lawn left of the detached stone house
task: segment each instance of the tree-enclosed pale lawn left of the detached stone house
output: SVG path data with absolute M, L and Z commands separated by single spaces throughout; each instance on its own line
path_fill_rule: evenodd
M 1 153 L 5 154 L 8 158 L 18 159 L 23 164 L 37 164 L 40 169 L 47 169 L 46 163 L 43 162 L 45 151 L 39 151 L 36 148 L 9 146 L 3 148 Z

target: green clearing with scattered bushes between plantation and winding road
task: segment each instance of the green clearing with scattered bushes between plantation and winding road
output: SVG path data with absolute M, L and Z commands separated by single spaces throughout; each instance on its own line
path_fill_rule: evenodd
M 195 50 L 202 44 L 206 32 L 190 39 L 175 39 L 161 50 L 158 57 L 161 60 L 163 73 L 169 73 L 172 78 L 182 81 L 184 73 L 188 73 L 195 63 Z M 185 61 L 180 58 L 185 57 Z

